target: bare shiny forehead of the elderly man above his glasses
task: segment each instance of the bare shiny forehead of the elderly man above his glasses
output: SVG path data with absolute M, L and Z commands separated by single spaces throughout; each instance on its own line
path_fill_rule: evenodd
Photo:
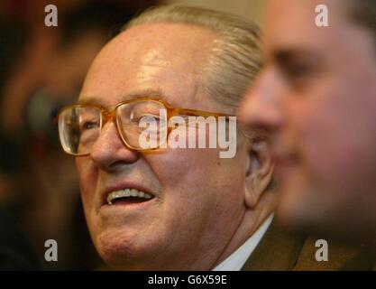
M 214 39 L 214 33 L 186 24 L 133 27 L 97 55 L 79 100 L 90 96 L 113 106 L 134 90 L 193 94 Z

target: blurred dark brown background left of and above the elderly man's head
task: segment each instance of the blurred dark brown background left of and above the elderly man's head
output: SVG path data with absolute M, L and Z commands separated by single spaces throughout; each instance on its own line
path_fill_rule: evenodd
M 73 158 L 62 153 L 53 116 L 74 103 L 96 53 L 134 14 L 179 3 L 261 23 L 263 0 L 0 0 L 0 210 L 16 219 L 47 270 L 105 268 L 92 246 Z M 46 5 L 58 26 L 46 27 Z M 44 261 L 55 239 L 59 262 Z

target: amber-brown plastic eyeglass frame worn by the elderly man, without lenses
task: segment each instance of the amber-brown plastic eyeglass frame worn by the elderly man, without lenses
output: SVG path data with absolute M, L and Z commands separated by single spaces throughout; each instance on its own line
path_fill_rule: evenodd
M 133 102 L 142 102 L 142 101 L 158 102 L 163 107 L 165 107 L 166 112 L 167 112 L 167 116 L 166 116 L 167 122 L 169 122 L 171 117 L 176 117 L 176 116 L 216 117 L 216 119 L 218 117 L 234 117 L 232 115 L 228 115 L 228 114 L 224 114 L 224 113 L 209 112 L 209 111 L 205 111 L 205 110 L 189 109 L 189 108 L 183 108 L 183 107 L 172 107 L 172 106 L 170 106 L 169 103 L 167 103 L 166 101 L 164 101 L 162 99 L 146 98 L 146 97 L 145 98 L 133 98 L 133 99 L 128 99 L 128 100 L 119 102 L 115 105 L 115 107 L 113 109 L 107 109 L 106 107 L 103 107 L 103 106 L 97 105 L 97 104 L 78 103 L 78 104 L 74 104 L 74 105 L 70 105 L 70 106 L 60 108 L 57 116 L 55 117 L 55 124 L 58 126 L 58 129 L 59 129 L 59 138 L 60 138 L 59 119 L 60 119 L 60 115 L 65 110 L 72 109 L 73 107 L 95 107 L 95 108 L 98 108 L 100 110 L 100 113 L 101 113 L 100 114 L 100 116 L 101 116 L 101 126 L 99 127 L 100 132 L 99 132 L 98 138 L 99 138 L 100 133 L 102 132 L 102 128 L 105 126 L 105 124 L 108 123 L 109 121 L 112 121 L 115 124 L 117 134 L 120 136 L 120 138 L 123 141 L 123 144 L 128 149 L 131 149 L 131 150 L 137 151 L 137 152 L 150 152 L 150 151 L 158 150 L 158 149 L 160 149 L 160 146 L 162 144 L 159 144 L 157 147 L 145 148 L 145 149 L 136 148 L 136 147 L 132 146 L 131 144 L 128 144 L 127 141 L 124 139 L 123 133 L 121 132 L 121 130 L 119 128 L 119 124 L 118 124 L 119 119 L 118 119 L 118 117 L 116 117 L 116 110 L 118 109 L 118 107 L 121 107 L 121 106 L 126 105 L 126 104 L 131 104 Z M 114 121 L 114 119 L 115 119 L 115 121 Z M 170 131 L 171 131 L 170 127 L 167 127 L 167 128 L 168 128 L 168 132 L 167 132 L 167 135 L 166 135 L 166 139 L 168 139 L 168 137 L 170 135 Z M 60 144 L 63 148 L 64 153 L 73 155 L 75 157 L 87 156 L 87 155 L 91 154 L 91 152 L 87 153 L 87 154 L 72 154 L 72 153 L 69 153 L 65 150 L 64 145 L 61 142 L 61 139 L 60 139 Z

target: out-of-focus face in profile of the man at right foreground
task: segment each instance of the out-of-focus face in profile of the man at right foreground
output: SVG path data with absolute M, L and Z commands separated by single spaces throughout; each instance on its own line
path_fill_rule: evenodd
M 376 223 L 374 39 L 343 1 L 326 1 L 330 26 L 317 27 L 319 4 L 271 1 L 266 65 L 241 117 L 273 133 L 285 221 L 365 232 Z

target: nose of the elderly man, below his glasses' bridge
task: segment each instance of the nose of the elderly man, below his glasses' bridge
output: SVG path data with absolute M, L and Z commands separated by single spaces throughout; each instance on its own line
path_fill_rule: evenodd
M 136 162 L 139 154 L 125 146 L 115 124 L 109 122 L 93 144 L 90 157 L 99 168 L 111 172 L 126 163 Z

